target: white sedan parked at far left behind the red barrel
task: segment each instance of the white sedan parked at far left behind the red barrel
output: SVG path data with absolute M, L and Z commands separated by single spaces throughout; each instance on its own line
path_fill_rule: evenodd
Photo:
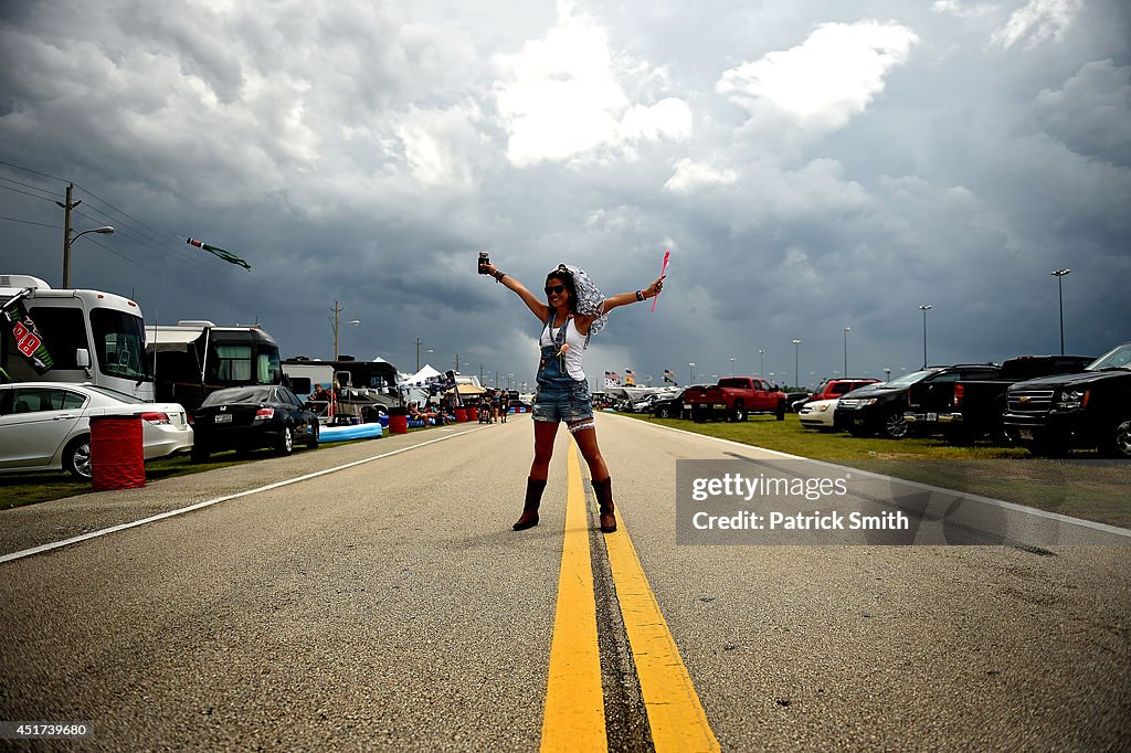
M 126 414 L 141 417 L 146 460 L 192 447 L 192 427 L 178 403 L 146 403 L 94 384 L 0 384 L 0 473 L 67 470 L 88 481 L 90 417 Z

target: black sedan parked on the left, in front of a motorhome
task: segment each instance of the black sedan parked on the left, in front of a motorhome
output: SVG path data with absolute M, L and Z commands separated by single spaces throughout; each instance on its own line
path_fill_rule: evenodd
M 274 448 L 279 455 L 291 455 L 296 442 L 318 447 L 318 416 L 279 386 L 213 392 L 192 412 L 192 459 L 197 461 L 218 450 Z

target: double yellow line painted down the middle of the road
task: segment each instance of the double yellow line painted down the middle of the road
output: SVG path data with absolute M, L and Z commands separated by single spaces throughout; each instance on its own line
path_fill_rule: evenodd
M 605 751 L 605 704 L 597 649 L 597 612 L 589 552 L 589 523 L 577 451 L 570 442 L 566 542 L 558 581 L 550 682 L 542 722 L 543 751 Z M 679 648 L 648 586 L 620 512 L 605 537 L 621 617 L 657 753 L 718 751 Z

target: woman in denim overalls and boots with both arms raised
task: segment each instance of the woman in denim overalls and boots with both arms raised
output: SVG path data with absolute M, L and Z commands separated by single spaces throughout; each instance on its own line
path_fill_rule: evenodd
M 613 309 L 655 297 L 664 288 L 664 276 L 636 293 L 620 293 L 606 298 L 582 269 L 558 265 L 546 275 L 546 301 L 543 302 L 490 262 L 481 265 L 481 272 L 491 275 L 497 283 L 518 294 L 530 313 L 542 322 L 538 336 L 542 357 L 533 409 L 534 462 L 526 479 L 523 514 L 512 528 L 526 530 L 538 525 L 538 507 L 550 475 L 554 436 L 558 424 L 566 422 L 589 465 L 593 491 L 599 505 L 601 530 L 612 534 L 616 530 L 612 479 L 597 445 L 593 403 L 581 354 L 589 338 L 604 329 Z

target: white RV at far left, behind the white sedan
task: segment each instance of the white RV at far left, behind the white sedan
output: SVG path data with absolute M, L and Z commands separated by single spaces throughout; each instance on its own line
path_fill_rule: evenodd
M 89 382 L 154 399 L 145 322 L 133 301 L 0 275 L 0 380 Z

